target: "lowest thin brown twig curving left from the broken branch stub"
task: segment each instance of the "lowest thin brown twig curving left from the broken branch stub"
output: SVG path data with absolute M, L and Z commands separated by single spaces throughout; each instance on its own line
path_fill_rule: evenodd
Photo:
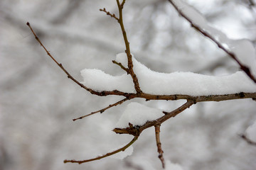
M 95 157 L 95 158 L 92 158 L 92 159 L 86 159 L 86 160 L 83 160 L 83 161 L 76 161 L 76 160 L 64 160 L 64 163 L 78 163 L 78 164 L 82 164 L 82 163 L 85 163 L 85 162 L 92 162 L 92 161 L 95 161 L 95 160 L 99 160 L 99 159 L 102 159 L 102 158 L 105 158 L 105 157 L 110 157 L 112 154 L 117 154 L 118 152 L 121 152 L 121 151 L 124 151 L 125 149 L 127 149 L 128 147 L 130 147 L 137 139 L 138 139 L 139 136 L 135 136 L 131 142 L 129 142 L 127 145 L 125 145 L 124 147 L 121 147 L 120 149 L 117 149 L 113 152 L 109 152 L 103 156 L 100 156 L 100 157 Z

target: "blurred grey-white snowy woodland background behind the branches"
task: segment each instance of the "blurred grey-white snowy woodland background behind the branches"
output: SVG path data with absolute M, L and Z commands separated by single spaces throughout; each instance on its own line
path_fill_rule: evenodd
M 189 0 L 228 38 L 247 38 L 255 45 L 255 6 L 249 1 Z M 0 169 L 161 169 L 154 128 L 142 132 L 131 156 L 87 164 L 89 159 L 132 140 L 116 135 L 127 103 L 102 114 L 72 119 L 120 100 L 92 96 L 70 81 L 38 45 L 31 26 L 50 53 L 82 81 L 80 70 L 124 72 L 112 64 L 124 52 L 119 25 L 99 8 L 117 13 L 114 0 L 0 1 Z M 168 1 L 127 0 L 124 25 L 137 60 L 156 72 L 227 75 L 238 65 L 210 40 L 178 17 Z M 184 101 L 144 101 L 170 110 Z M 253 169 L 256 147 L 238 135 L 256 120 L 251 99 L 198 103 L 161 125 L 161 143 L 169 169 Z

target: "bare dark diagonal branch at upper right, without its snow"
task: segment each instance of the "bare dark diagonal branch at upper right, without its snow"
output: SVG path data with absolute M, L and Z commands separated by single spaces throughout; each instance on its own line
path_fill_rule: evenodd
M 213 42 L 215 42 L 216 45 L 218 45 L 218 47 L 220 49 L 222 49 L 224 52 L 226 52 L 230 57 L 233 58 L 233 60 L 235 60 L 235 62 L 237 62 L 240 66 L 240 69 L 242 69 L 243 72 L 245 72 L 245 74 L 247 74 L 248 77 L 250 77 L 250 79 L 252 79 L 252 81 L 254 81 L 256 83 L 256 79 L 255 77 L 252 75 L 252 73 L 250 72 L 250 69 L 245 66 L 244 64 L 242 64 L 237 57 L 235 56 L 235 54 L 233 52 L 231 52 L 230 50 L 228 50 L 224 45 L 222 45 L 220 42 L 218 42 L 218 40 L 216 40 L 215 38 L 213 38 L 212 35 L 210 35 L 210 33 L 208 33 L 206 30 L 203 30 L 202 28 L 200 28 L 200 26 L 196 25 L 196 23 L 193 23 L 193 21 L 191 20 L 191 18 L 188 18 L 188 16 L 186 16 L 185 13 L 183 13 L 183 11 L 178 8 L 178 6 L 176 6 L 176 4 L 174 3 L 173 0 L 169 0 L 169 2 L 174 6 L 174 8 L 176 9 L 176 11 L 178 11 L 178 13 L 186 19 L 186 21 L 188 21 L 189 23 L 191 23 L 191 26 L 193 28 L 195 28 L 196 30 L 198 30 L 200 33 L 202 33 L 204 36 L 210 38 L 210 40 L 213 40 Z

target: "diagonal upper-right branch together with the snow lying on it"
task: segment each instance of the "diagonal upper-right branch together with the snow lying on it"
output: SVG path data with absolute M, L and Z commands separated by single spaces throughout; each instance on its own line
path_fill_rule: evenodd
M 182 0 L 169 0 L 176 11 L 185 18 L 191 26 L 204 36 L 213 40 L 220 49 L 235 60 L 245 74 L 256 84 L 256 51 L 249 40 L 231 40 L 220 30 L 208 24 L 206 18 Z

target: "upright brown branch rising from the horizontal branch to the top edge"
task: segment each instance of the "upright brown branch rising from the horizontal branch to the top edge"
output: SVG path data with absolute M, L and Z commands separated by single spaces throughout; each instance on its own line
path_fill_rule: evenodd
M 127 54 L 127 59 L 128 59 L 128 72 L 132 77 L 132 80 L 134 82 L 134 88 L 137 91 L 137 94 L 142 94 L 142 90 L 139 87 L 139 81 L 138 81 L 137 76 L 136 76 L 136 74 L 134 73 L 134 70 L 133 70 L 131 50 L 129 48 L 129 41 L 128 41 L 128 38 L 127 38 L 127 33 L 124 29 L 124 23 L 123 23 L 123 19 L 122 19 L 122 9 L 124 8 L 124 3 L 125 3 L 125 0 L 122 1 L 122 4 L 120 4 L 119 0 L 117 0 L 117 6 L 118 6 L 118 10 L 119 10 L 118 23 L 121 27 L 122 35 L 124 37 L 124 43 L 125 43 L 125 47 L 126 47 L 125 52 Z

